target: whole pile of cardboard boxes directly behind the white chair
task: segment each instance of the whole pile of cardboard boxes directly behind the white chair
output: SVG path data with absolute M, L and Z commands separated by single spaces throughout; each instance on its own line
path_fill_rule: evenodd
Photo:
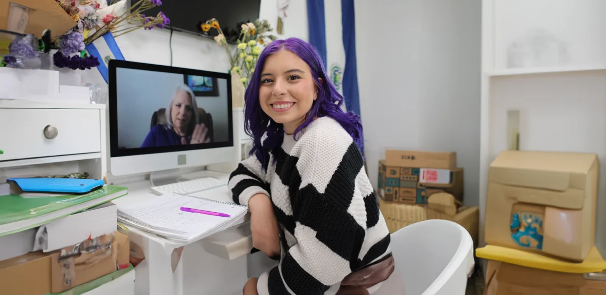
M 379 207 L 393 233 L 426 219 L 447 219 L 465 227 L 477 242 L 478 207 L 464 207 L 463 170 L 456 153 L 385 151 L 379 161 Z

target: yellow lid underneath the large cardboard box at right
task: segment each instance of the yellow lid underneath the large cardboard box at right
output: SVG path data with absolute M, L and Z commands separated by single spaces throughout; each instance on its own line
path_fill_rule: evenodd
M 476 256 L 507 262 L 508 264 L 521 265 L 522 267 L 559 271 L 561 273 L 596 273 L 606 270 L 606 261 L 602 258 L 596 247 L 591 248 L 587 258 L 579 263 L 494 245 L 487 245 L 486 247 L 476 249 Z

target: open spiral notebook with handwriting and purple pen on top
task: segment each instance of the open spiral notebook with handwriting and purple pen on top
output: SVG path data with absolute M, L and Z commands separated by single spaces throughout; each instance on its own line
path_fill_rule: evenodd
M 181 207 L 225 213 L 231 217 L 181 211 Z M 175 242 L 194 242 L 232 227 L 244 219 L 248 207 L 203 197 L 166 193 L 145 202 L 118 205 L 118 220 Z

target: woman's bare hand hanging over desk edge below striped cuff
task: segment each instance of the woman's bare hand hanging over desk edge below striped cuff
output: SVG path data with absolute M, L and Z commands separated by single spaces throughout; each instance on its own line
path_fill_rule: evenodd
M 267 257 L 280 256 L 278 220 L 273 213 L 271 201 L 265 194 L 255 194 L 248 200 L 250 208 L 250 230 L 253 233 L 253 247 Z

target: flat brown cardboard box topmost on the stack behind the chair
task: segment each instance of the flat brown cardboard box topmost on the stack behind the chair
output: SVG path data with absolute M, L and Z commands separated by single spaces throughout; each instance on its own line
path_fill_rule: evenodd
M 455 169 L 456 153 L 436 153 L 431 151 L 386 150 L 385 162 L 397 167 L 423 167 Z

